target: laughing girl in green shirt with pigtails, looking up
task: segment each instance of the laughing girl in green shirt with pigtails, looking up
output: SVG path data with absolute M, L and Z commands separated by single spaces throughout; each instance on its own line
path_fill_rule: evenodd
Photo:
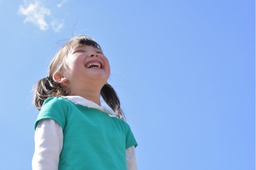
M 33 170 L 135 170 L 137 142 L 108 84 L 108 59 L 88 36 L 73 37 L 36 84 Z M 115 112 L 100 106 L 100 96 Z

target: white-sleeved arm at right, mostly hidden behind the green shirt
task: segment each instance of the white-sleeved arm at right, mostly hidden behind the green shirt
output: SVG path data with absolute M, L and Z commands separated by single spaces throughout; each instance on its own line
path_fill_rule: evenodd
M 127 148 L 126 152 L 126 166 L 127 170 L 137 170 L 136 157 L 135 157 L 135 147 L 134 145 Z

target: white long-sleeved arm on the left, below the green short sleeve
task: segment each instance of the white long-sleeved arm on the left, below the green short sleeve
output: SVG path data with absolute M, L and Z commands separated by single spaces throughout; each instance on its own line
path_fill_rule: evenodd
M 63 133 L 60 125 L 52 119 L 44 119 L 35 131 L 35 153 L 33 170 L 58 170 L 60 152 L 63 147 Z

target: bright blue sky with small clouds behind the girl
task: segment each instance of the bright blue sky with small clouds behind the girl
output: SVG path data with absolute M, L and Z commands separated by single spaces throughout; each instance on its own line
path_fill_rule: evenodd
M 0 21 L 0 169 L 31 169 L 31 89 L 73 28 L 109 59 L 140 170 L 255 169 L 255 1 L 0 0 Z

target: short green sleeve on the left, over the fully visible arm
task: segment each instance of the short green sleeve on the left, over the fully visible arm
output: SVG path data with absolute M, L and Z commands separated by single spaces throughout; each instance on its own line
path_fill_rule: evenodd
M 68 114 L 68 105 L 65 99 L 61 97 L 50 97 L 44 101 L 44 104 L 37 116 L 35 129 L 37 127 L 37 123 L 44 119 L 52 119 L 59 123 L 62 130 L 64 130 L 66 126 Z

